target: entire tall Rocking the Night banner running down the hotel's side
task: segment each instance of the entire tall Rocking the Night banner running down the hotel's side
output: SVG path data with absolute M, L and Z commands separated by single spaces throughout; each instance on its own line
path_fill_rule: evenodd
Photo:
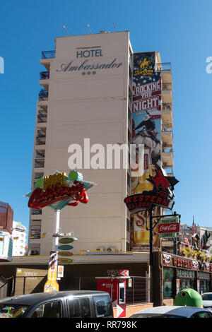
M 154 175 L 154 170 L 160 167 L 161 141 L 161 72 L 155 72 L 155 52 L 134 53 L 133 105 L 132 105 L 132 137 L 131 143 L 143 144 L 143 158 L 131 161 L 131 165 L 139 167 L 141 176 L 134 177 L 131 169 L 131 195 L 152 191 L 153 183 L 147 179 Z M 131 156 L 132 158 L 132 156 Z M 138 165 L 138 160 L 140 164 Z M 135 162 L 136 161 L 136 162 Z M 140 198 L 138 198 L 141 201 Z M 146 204 L 146 202 L 145 202 Z M 131 249 L 149 249 L 148 206 L 140 202 L 138 210 L 131 208 Z M 129 207 L 128 207 L 129 208 Z M 129 208 L 130 211 L 130 208 Z M 156 237 L 154 237 L 154 245 Z

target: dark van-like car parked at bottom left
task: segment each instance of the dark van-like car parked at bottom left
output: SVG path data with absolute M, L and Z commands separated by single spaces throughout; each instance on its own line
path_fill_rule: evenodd
M 113 318 L 108 292 L 63 291 L 7 297 L 0 318 Z

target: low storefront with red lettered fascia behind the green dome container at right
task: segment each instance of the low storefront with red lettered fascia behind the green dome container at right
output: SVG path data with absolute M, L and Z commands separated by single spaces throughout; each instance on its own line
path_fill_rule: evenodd
M 175 298 L 184 288 L 193 288 L 200 294 L 211 292 L 212 264 L 172 254 L 160 254 L 161 295 L 164 303 Z

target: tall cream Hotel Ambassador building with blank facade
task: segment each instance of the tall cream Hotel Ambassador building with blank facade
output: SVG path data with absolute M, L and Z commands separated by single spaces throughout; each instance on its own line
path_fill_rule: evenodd
M 42 52 L 40 60 L 45 69 L 40 73 L 42 90 L 37 100 L 32 189 L 38 178 L 56 170 L 69 174 L 72 143 L 83 148 L 84 138 L 90 138 L 90 146 L 131 142 L 134 55 L 129 32 L 57 37 L 54 41 L 55 51 Z M 161 69 L 158 52 L 156 59 Z M 170 64 L 164 68 L 162 162 L 172 172 L 172 73 Z M 130 214 L 124 204 L 130 194 L 129 171 L 78 171 L 97 185 L 88 191 L 87 204 L 61 210 L 61 232 L 73 231 L 78 238 L 73 253 L 98 248 L 129 250 Z M 52 250 L 53 220 L 49 207 L 30 209 L 29 230 L 37 234 L 29 238 L 31 254 Z

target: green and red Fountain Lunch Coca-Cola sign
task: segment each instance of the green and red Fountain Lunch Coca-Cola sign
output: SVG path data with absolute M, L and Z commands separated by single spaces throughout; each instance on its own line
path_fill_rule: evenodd
M 179 232 L 179 217 L 163 218 L 158 224 L 160 237 L 176 237 Z

